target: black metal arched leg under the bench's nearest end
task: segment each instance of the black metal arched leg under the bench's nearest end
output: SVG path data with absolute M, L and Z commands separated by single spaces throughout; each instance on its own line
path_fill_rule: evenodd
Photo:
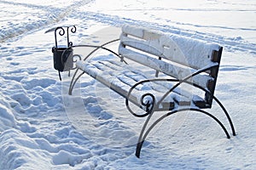
M 212 117 L 212 119 L 215 120 L 216 122 L 218 122 L 219 126 L 223 128 L 224 133 L 226 134 L 227 138 L 230 139 L 230 134 L 228 133 L 227 129 L 224 127 L 223 123 L 218 120 L 218 118 L 216 118 L 215 116 L 212 116 L 212 114 L 208 113 L 207 111 L 202 111 L 202 110 L 197 109 L 197 108 L 184 108 L 184 109 L 180 109 L 180 110 L 171 111 L 169 113 L 166 113 L 164 116 L 160 116 L 159 119 L 157 119 L 150 127 L 148 127 L 148 130 L 146 131 L 146 133 L 144 133 L 144 134 L 142 134 L 143 132 L 141 133 L 141 135 L 143 135 L 143 137 L 142 138 L 140 137 L 140 139 L 137 143 L 137 149 L 136 149 L 136 156 L 138 158 L 140 157 L 140 152 L 142 150 L 143 143 L 144 143 L 145 139 L 148 136 L 148 133 L 150 133 L 150 131 L 155 127 L 155 125 L 157 125 L 160 121 L 162 121 L 167 116 L 171 116 L 171 115 L 173 115 L 177 112 L 181 112 L 181 111 L 199 111 L 201 113 L 206 114 L 207 116 Z M 149 117 L 149 119 L 150 119 L 150 117 Z M 147 119 L 147 121 L 145 123 L 148 124 L 149 119 Z M 144 129 L 143 129 L 143 131 L 144 131 Z

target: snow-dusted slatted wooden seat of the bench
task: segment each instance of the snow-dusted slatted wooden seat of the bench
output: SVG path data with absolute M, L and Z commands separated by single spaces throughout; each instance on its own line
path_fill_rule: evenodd
M 131 87 L 137 82 L 147 80 L 149 76 L 145 76 L 144 72 L 139 71 L 134 65 L 126 65 L 123 62 L 116 60 L 90 60 L 90 61 L 78 61 L 77 67 L 84 71 L 90 77 L 95 78 L 97 81 L 102 82 L 107 87 L 113 89 L 115 92 L 123 97 L 126 97 Z M 141 99 L 143 94 L 154 94 L 155 102 L 157 103 L 174 83 L 170 82 L 148 82 L 137 86 L 130 95 L 129 100 L 146 110 L 141 105 Z M 184 96 L 179 93 L 181 90 L 177 88 L 169 96 L 164 99 L 157 111 L 172 111 L 177 105 L 195 105 L 197 103 L 205 102 L 200 96 L 193 94 L 192 96 Z M 184 91 L 184 90 L 183 90 Z M 184 93 L 183 93 L 184 94 Z M 190 94 L 187 92 L 187 94 Z M 150 102 L 148 101 L 144 102 Z M 192 103 L 191 103 L 192 101 Z

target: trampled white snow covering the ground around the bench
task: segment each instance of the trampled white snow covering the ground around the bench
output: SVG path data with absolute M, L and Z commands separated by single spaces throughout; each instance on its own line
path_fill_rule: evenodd
M 254 0 L 3 0 L 0 8 L 1 170 L 256 169 Z M 119 37 L 116 27 L 131 24 L 223 46 L 216 95 L 237 136 L 226 139 L 203 115 L 171 116 L 137 159 L 143 119 L 90 77 L 68 96 L 70 77 L 60 82 L 53 69 L 54 34 L 44 32 L 73 24 L 74 44 Z

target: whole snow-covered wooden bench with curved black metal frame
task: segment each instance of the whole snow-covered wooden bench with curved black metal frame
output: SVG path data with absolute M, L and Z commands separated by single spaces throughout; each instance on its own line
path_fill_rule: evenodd
M 97 48 L 104 48 L 104 45 Z M 230 138 L 224 124 L 203 110 L 210 109 L 215 100 L 230 122 L 233 135 L 236 135 L 224 105 L 213 95 L 222 49 L 217 44 L 188 37 L 123 26 L 118 54 L 108 50 L 116 54 L 120 61 L 78 61 L 78 70 L 73 76 L 69 94 L 72 94 L 79 77 L 86 73 L 123 96 L 128 111 L 134 116 L 148 116 L 137 142 L 137 157 L 153 127 L 166 116 L 181 111 L 198 111 L 212 117 L 223 128 L 227 138 Z M 143 69 L 145 66 L 147 69 Z M 78 75 L 78 71 L 83 72 Z M 148 76 L 150 71 L 152 74 Z M 133 111 L 131 103 L 141 108 L 143 114 Z M 157 111 L 167 113 L 161 112 L 159 118 L 149 126 L 150 118 Z

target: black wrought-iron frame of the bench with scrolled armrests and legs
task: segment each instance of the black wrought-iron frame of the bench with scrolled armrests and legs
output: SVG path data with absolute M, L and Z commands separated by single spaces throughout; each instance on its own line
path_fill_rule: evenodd
M 124 34 L 124 32 L 122 33 Z M 126 34 L 126 33 L 125 33 Z M 127 64 L 127 62 L 125 61 L 125 57 L 122 54 L 118 54 L 115 53 L 113 50 L 106 48 L 106 46 L 112 42 L 118 42 L 120 41 L 120 39 L 115 39 L 111 42 L 106 42 L 104 44 L 102 44 L 101 46 L 93 46 L 93 45 L 78 45 L 78 46 L 70 46 L 67 48 L 81 48 L 81 47 L 90 47 L 90 48 L 95 48 L 94 50 L 92 50 L 90 52 L 90 54 L 88 54 L 85 58 L 84 61 L 86 59 L 88 59 L 91 54 L 94 54 L 97 50 L 99 49 L 104 49 L 104 50 L 108 50 L 108 52 L 114 54 L 115 56 L 119 57 L 119 59 L 121 60 L 121 62 L 125 62 L 125 64 Z M 122 41 L 120 41 L 119 46 L 122 46 L 123 48 L 125 48 L 125 45 L 127 44 L 123 44 Z M 222 54 L 222 50 L 223 48 L 220 47 L 217 50 L 213 50 L 212 51 L 212 61 L 217 63 L 217 65 L 210 65 L 204 68 L 201 68 L 197 71 L 195 71 L 194 73 L 190 74 L 187 77 L 183 77 L 182 79 L 178 79 L 178 78 L 153 78 L 153 79 L 147 79 L 147 80 L 143 80 L 140 82 L 135 83 L 129 90 L 128 94 L 122 94 L 123 97 L 125 97 L 125 105 L 127 107 L 127 110 L 131 112 L 132 115 L 137 116 L 137 117 L 144 117 L 144 116 L 148 116 L 146 121 L 143 124 L 143 128 L 141 130 L 141 133 L 139 135 L 138 138 L 138 142 L 137 142 L 137 149 L 136 149 L 136 156 L 140 157 L 140 152 L 143 146 L 143 142 L 145 141 L 145 139 L 148 136 L 148 133 L 150 133 L 150 131 L 159 123 L 161 122 L 163 119 L 165 119 L 167 116 L 171 116 L 173 114 L 176 114 L 178 112 L 182 112 L 182 111 L 196 111 L 196 112 L 201 112 L 207 116 L 210 116 L 215 122 L 218 123 L 218 125 L 220 127 L 222 127 L 222 129 L 224 130 L 224 133 L 226 135 L 226 137 L 228 139 L 230 139 L 230 134 L 228 133 L 226 127 L 224 127 L 224 124 L 222 122 L 220 122 L 218 120 L 218 118 L 216 116 L 213 116 L 211 113 L 209 113 L 208 111 L 204 111 L 203 109 L 210 109 L 212 107 L 212 101 L 216 101 L 216 103 L 219 105 L 219 107 L 224 111 L 224 115 L 226 116 L 226 118 L 228 119 L 228 122 L 230 123 L 230 128 L 232 131 L 232 134 L 235 136 L 236 132 L 235 132 L 235 127 L 233 126 L 233 122 L 231 121 L 230 115 L 228 113 L 228 111 L 226 111 L 226 109 L 224 108 L 224 105 L 218 100 L 218 98 L 216 96 L 214 96 L 214 90 L 215 90 L 215 86 L 216 86 L 216 80 L 218 77 L 218 68 L 219 68 L 219 63 L 220 63 L 220 58 L 221 58 L 221 54 Z M 65 52 L 63 53 L 63 55 L 65 55 Z M 73 55 L 73 57 L 76 55 Z M 81 59 L 81 57 L 79 56 L 79 58 Z M 159 59 L 161 59 L 161 57 L 159 56 Z M 76 84 L 76 82 L 79 80 L 79 78 L 84 75 L 84 71 L 82 71 L 79 74 L 80 69 L 77 68 L 76 71 L 73 74 L 73 78 L 71 80 L 70 83 L 70 88 L 69 88 L 69 92 L 68 94 L 72 94 L 73 92 L 73 88 L 74 85 Z M 156 71 L 156 76 L 158 75 L 159 71 Z M 198 85 L 197 83 L 191 82 L 189 81 L 190 78 L 193 78 L 201 73 L 207 73 L 209 75 L 211 75 L 211 77 L 213 78 L 213 81 L 211 81 L 211 83 L 209 83 L 209 87 L 208 88 L 203 88 L 200 85 Z M 136 103 L 136 105 L 138 105 L 139 107 L 143 108 L 143 110 L 145 111 L 145 113 L 143 115 L 138 115 L 136 112 L 132 111 L 129 102 L 131 101 L 130 95 L 132 93 L 132 91 L 137 88 L 137 86 L 143 84 L 143 83 L 147 83 L 147 82 L 176 82 L 176 84 L 170 88 L 166 94 L 163 94 L 162 98 L 159 99 L 158 101 L 156 101 L 156 99 L 154 98 L 154 94 L 144 94 L 142 96 L 141 99 L 141 103 Z M 194 87 L 194 88 L 198 88 L 201 89 L 201 91 L 205 92 L 205 96 L 206 96 L 206 101 L 204 102 L 199 102 L 195 105 L 182 105 L 180 104 L 181 107 L 178 107 L 179 104 L 175 103 L 175 105 L 169 105 L 168 108 L 160 108 L 160 104 L 161 102 L 166 99 L 166 96 L 168 94 L 171 94 L 173 92 L 173 90 L 175 90 L 176 88 L 180 87 L 181 84 L 186 83 L 189 84 L 190 86 Z M 113 89 L 113 88 L 112 88 Z M 114 89 L 113 89 L 114 90 Z M 151 102 L 148 103 L 144 103 L 143 99 L 144 98 L 150 98 Z M 134 104 L 134 101 L 131 101 Z M 151 119 L 151 117 L 154 115 L 154 112 L 156 111 L 169 111 L 164 115 L 161 115 L 156 121 L 154 121 L 150 126 L 148 125 L 149 120 Z

